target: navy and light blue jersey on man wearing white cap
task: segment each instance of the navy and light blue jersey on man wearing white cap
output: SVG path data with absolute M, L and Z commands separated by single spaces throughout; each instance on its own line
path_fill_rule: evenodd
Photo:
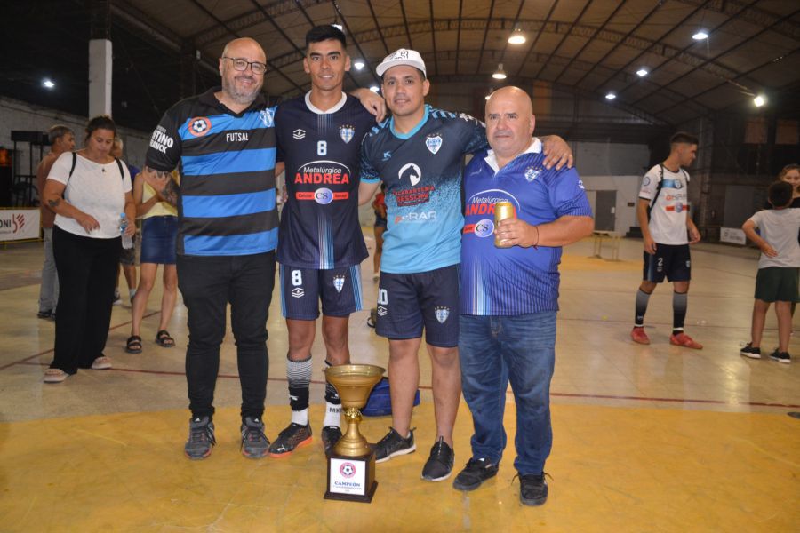
M 392 119 L 367 134 L 361 179 L 386 183 L 381 271 L 413 274 L 459 263 L 464 156 L 485 147 L 483 123 L 429 106 L 407 134 L 396 132 Z

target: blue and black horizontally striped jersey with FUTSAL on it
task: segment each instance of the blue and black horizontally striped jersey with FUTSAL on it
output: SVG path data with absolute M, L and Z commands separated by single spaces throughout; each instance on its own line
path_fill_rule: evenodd
M 150 168 L 180 168 L 177 251 L 237 256 L 275 250 L 275 108 L 259 96 L 236 114 L 220 104 L 216 91 L 172 106 L 150 139 Z

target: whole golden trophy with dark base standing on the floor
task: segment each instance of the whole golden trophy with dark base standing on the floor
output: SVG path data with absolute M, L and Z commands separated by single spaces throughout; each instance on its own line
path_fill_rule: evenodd
M 348 429 L 328 454 L 328 489 L 325 498 L 370 503 L 375 481 L 375 452 L 358 431 L 361 411 L 384 369 L 372 364 L 342 364 L 325 369 L 336 387 Z

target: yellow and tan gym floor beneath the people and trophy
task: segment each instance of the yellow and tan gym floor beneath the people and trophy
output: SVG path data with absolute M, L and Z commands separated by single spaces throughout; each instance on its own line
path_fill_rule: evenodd
M 371 231 L 365 230 L 365 235 Z M 368 244 L 372 249 L 372 241 Z M 377 465 L 372 504 L 325 500 L 322 424 L 324 346 L 314 348 L 310 418 L 315 440 L 291 457 L 253 461 L 239 452 L 236 346 L 222 346 L 217 446 L 204 461 L 183 456 L 188 431 L 184 376 L 186 311 L 169 330 L 177 346 L 153 341 L 161 285 L 143 323 L 144 351 L 125 354 L 130 306 L 116 306 L 105 354 L 112 370 L 82 370 L 45 385 L 53 322 L 36 318 L 42 244 L 0 250 L 0 530 L 3 531 L 796 531 L 800 523 L 800 340 L 791 364 L 739 355 L 748 341 L 757 252 L 692 247 L 686 332 L 701 351 L 670 346 L 671 289 L 651 298 L 652 345 L 630 341 L 641 242 L 622 240 L 620 261 L 592 256 L 592 240 L 564 251 L 556 375 L 551 386 L 553 453 L 548 503 L 519 503 L 514 480 L 514 400 L 500 473 L 474 492 L 420 480 L 435 427 L 430 367 L 420 350 L 418 450 Z M 607 244 L 603 255 L 610 257 Z M 160 272 L 160 271 L 159 271 Z M 375 300 L 364 261 L 364 305 Z M 160 274 L 159 274 L 160 275 Z M 122 281 L 123 290 L 124 280 Z M 350 320 L 353 362 L 386 367 L 387 341 Z M 800 330 L 800 315 L 794 328 Z M 287 339 L 276 290 L 268 320 L 264 418 L 274 439 L 289 421 Z M 774 314 L 763 351 L 777 346 Z M 390 418 L 365 418 L 372 442 Z M 458 472 L 470 457 L 471 418 L 462 402 L 455 428 Z

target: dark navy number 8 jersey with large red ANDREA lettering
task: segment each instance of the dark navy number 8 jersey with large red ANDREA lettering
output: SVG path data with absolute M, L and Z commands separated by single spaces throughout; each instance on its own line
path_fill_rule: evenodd
M 375 117 L 351 96 L 323 112 L 307 94 L 278 106 L 275 122 L 288 195 L 277 260 L 320 270 L 358 265 L 369 255 L 358 222 L 361 140 Z

